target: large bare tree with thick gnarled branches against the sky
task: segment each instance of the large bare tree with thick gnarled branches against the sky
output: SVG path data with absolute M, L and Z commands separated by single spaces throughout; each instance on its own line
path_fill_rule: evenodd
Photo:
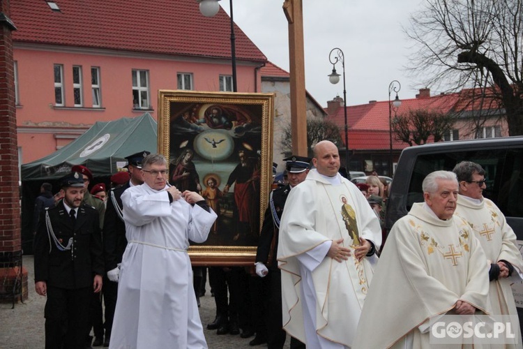
M 504 108 L 510 135 L 523 135 L 522 2 L 427 0 L 405 29 L 418 47 L 409 68 L 425 86 L 478 89 L 472 98 Z

